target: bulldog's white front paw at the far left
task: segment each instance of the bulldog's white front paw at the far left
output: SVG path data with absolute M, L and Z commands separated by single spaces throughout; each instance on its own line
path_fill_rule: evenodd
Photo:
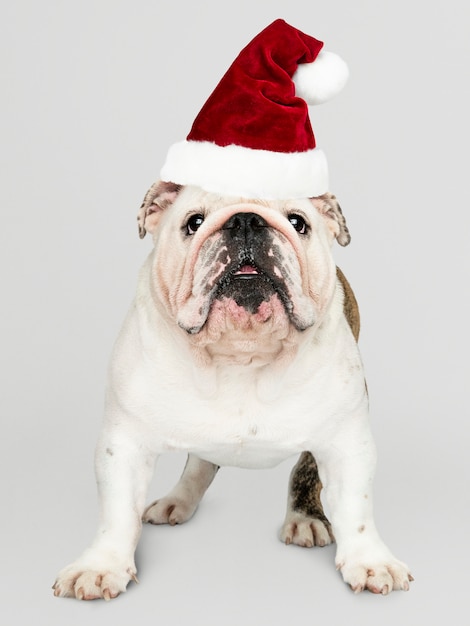
M 138 582 L 135 566 L 79 559 L 59 572 L 52 586 L 54 595 L 78 600 L 111 600 L 126 591 L 130 580 Z

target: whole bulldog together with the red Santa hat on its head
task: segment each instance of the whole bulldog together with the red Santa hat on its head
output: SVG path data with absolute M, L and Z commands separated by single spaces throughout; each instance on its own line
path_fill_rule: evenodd
M 220 466 L 295 455 L 281 539 L 336 542 L 356 592 L 409 588 L 374 523 L 359 314 L 331 252 L 350 236 L 308 121 L 346 78 L 321 42 L 276 20 L 170 148 L 138 215 L 154 247 L 111 358 L 99 527 L 55 595 L 116 597 L 136 580 L 142 522 L 189 520 Z M 148 505 L 155 461 L 174 450 L 188 454 L 181 479 Z

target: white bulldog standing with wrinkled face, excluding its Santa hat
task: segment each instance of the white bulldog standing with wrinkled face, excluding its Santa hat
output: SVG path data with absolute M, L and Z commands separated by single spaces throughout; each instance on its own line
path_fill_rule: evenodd
M 412 576 L 373 519 L 359 316 L 331 255 L 335 238 L 350 237 L 334 196 L 252 201 L 158 182 L 139 229 L 155 246 L 111 360 L 96 452 L 101 522 L 55 595 L 116 597 L 137 580 L 142 520 L 187 521 L 220 465 L 266 468 L 299 453 L 282 540 L 336 540 L 355 592 L 408 590 Z M 145 508 L 156 458 L 172 450 L 189 454 L 183 475 Z

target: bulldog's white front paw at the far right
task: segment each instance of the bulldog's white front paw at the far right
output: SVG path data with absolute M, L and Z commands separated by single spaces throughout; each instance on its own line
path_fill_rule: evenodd
M 336 567 L 354 593 L 360 593 L 365 589 L 382 595 L 387 595 L 391 591 L 408 591 L 410 582 L 414 580 L 407 565 L 391 555 L 384 560 L 340 561 Z

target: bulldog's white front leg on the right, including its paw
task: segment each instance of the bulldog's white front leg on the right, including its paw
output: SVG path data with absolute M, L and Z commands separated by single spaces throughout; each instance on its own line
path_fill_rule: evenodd
M 376 529 L 372 507 L 375 445 L 366 417 L 353 416 L 327 450 L 316 451 L 337 543 L 336 566 L 353 591 L 387 594 L 409 589 L 408 567 Z

